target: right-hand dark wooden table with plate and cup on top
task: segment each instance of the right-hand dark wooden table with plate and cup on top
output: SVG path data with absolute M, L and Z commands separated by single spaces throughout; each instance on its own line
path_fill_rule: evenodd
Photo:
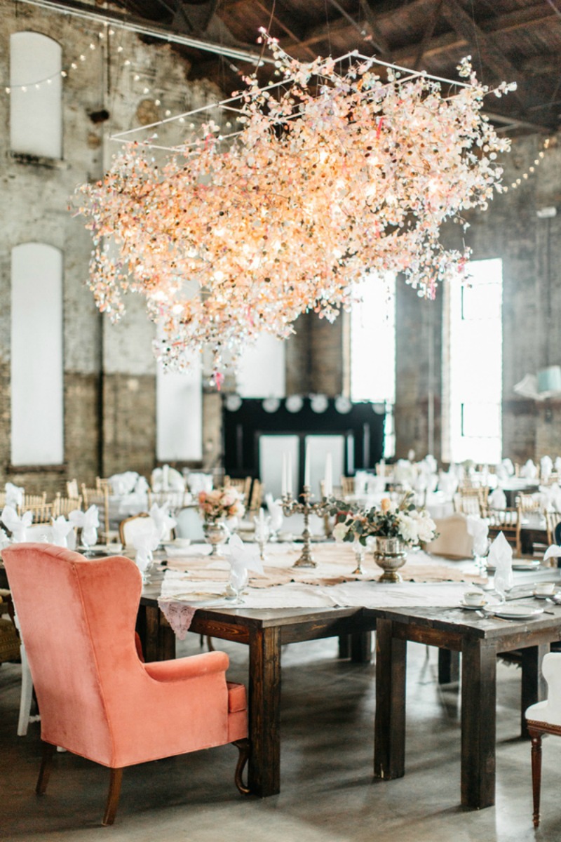
M 528 600 L 532 602 L 532 600 Z M 536 605 L 540 605 L 535 600 Z M 374 775 L 405 775 L 405 673 L 407 641 L 462 654 L 461 801 L 495 803 L 495 699 L 497 653 L 521 650 L 521 724 L 542 697 L 540 665 L 549 644 L 561 639 L 561 607 L 528 621 L 479 618 L 461 609 L 365 609 L 376 624 Z M 373 625 L 373 624 L 372 624 Z

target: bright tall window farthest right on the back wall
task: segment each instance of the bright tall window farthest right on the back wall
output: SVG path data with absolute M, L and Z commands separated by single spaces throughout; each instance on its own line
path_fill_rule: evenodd
M 502 261 L 475 260 L 469 274 L 469 285 L 448 288 L 449 457 L 493 463 L 502 450 Z

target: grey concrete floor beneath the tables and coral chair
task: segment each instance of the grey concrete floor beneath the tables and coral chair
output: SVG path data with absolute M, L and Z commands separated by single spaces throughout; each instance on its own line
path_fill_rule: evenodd
M 185 653 L 198 652 L 188 636 Z M 217 642 L 222 644 L 222 642 Z M 244 680 L 246 648 L 230 653 Z M 409 644 L 406 775 L 373 782 L 373 665 L 337 660 L 335 640 L 283 650 L 282 789 L 241 797 L 236 749 L 223 746 L 125 771 L 113 828 L 103 829 L 107 772 L 58 754 L 44 797 L 34 795 L 40 727 L 18 738 L 19 666 L 0 667 L 0 842 L 525 842 L 561 840 L 561 740 L 543 750 L 542 826 L 532 829 L 529 743 L 517 737 L 520 673 L 499 665 L 497 804 L 459 802 L 458 688 L 439 688 L 437 656 Z M 134 715 L 134 711 L 131 711 Z

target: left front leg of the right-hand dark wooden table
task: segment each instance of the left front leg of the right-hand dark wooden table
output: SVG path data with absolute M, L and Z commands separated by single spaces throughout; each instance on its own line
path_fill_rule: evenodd
M 376 621 L 374 777 L 405 775 L 405 666 L 407 643 L 393 637 L 391 620 Z

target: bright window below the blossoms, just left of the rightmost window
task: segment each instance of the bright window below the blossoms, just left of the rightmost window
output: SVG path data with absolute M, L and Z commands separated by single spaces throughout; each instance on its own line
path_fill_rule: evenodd
M 351 313 L 351 397 L 385 405 L 384 456 L 394 456 L 395 278 L 369 273 Z

